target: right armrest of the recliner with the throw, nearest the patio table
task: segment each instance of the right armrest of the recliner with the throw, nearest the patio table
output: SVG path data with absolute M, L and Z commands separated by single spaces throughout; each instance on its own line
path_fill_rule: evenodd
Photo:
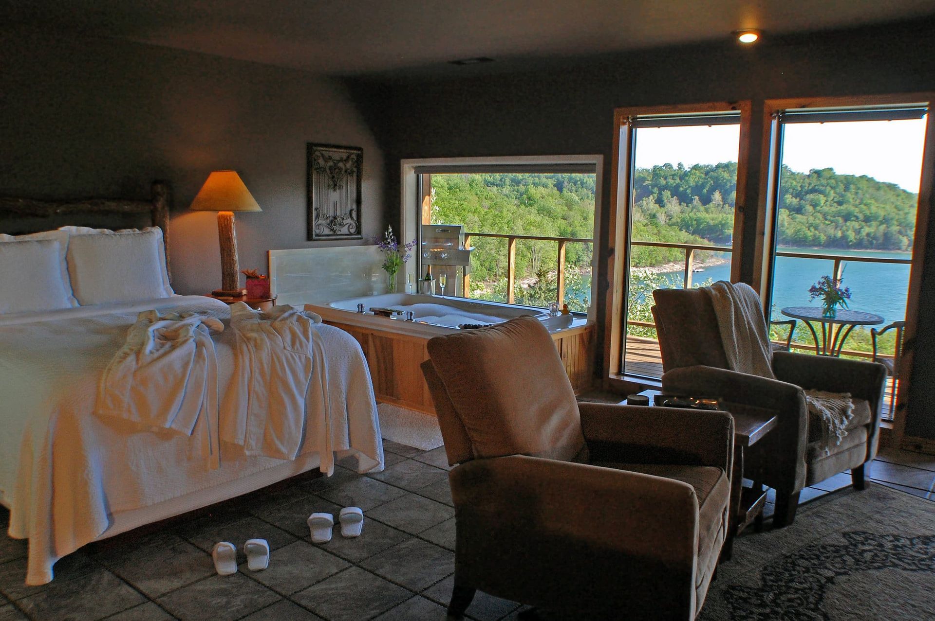
M 806 390 L 850 392 L 857 399 L 869 401 L 871 408 L 884 393 L 886 367 L 879 362 L 777 351 L 772 356 L 772 368 L 784 382 Z

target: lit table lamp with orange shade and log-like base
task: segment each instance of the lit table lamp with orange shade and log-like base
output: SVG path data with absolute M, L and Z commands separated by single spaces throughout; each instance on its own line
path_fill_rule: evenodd
M 208 176 L 189 209 L 218 212 L 218 240 L 221 242 L 221 289 L 211 291 L 219 297 L 247 295 L 240 287 L 237 265 L 237 233 L 234 231 L 235 211 L 263 211 L 233 170 L 216 170 Z

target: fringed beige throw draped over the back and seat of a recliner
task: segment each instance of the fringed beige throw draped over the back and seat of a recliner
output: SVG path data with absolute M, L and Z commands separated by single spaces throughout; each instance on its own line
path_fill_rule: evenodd
M 731 371 L 776 379 L 772 373 L 770 331 L 756 291 L 745 283 L 733 284 L 726 280 L 702 289 L 711 296 Z M 806 390 L 805 401 L 809 412 L 822 420 L 822 449 L 828 455 L 832 436 L 835 444 L 840 445 L 847 435 L 844 428 L 854 417 L 854 400 L 846 392 Z

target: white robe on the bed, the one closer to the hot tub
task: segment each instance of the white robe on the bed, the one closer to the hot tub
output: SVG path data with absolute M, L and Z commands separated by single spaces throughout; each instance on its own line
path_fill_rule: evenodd
M 327 391 L 321 389 L 327 385 L 324 348 L 313 328 L 321 322 L 288 305 L 268 312 L 231 305 L 237 348 L 223 402 L 225 442 L 242 445 L 247 455 L 295 459 L 309 411 L 328 410 Z

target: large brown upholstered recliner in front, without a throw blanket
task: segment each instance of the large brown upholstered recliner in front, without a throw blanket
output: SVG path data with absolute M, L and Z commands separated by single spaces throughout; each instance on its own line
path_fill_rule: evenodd
M 428 342 L 460 619 L 481 589 L 575 618 L 693 619 L 726 536 L 733 418 L 578 403 L 535 318 Z

